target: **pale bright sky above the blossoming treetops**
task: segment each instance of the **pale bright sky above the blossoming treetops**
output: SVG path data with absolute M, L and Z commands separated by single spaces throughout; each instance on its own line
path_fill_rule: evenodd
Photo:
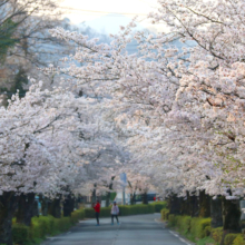
M 136 14 L 141 28 L 155 28 L 146 19 L 156 11 L 157 0 L 63 0 L 65 17 L 75 24 L 86 24 L 99 32 L 116 33 L 119 26 L 126 26 Z

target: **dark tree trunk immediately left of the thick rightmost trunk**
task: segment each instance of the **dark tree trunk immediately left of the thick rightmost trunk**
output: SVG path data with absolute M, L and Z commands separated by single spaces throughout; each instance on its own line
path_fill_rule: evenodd
M 210 198 L 210 226 L 217 228 L 223 226 L 223 216 L 222 216 L 222 197 L 216 199 Z

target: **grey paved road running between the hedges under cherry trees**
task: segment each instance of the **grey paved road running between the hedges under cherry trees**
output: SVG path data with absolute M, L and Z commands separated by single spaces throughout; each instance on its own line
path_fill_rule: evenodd
M 164 227 L 159 214 L 119 217 L 111 226 L 109 218 L 82 220 L 70 232 L 49 238 L 43 245 L 186 245 L 190 244 Z

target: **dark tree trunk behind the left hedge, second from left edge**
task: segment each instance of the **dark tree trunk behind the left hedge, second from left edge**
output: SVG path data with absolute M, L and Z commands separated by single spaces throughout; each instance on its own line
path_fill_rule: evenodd
M 35 209 L 35 194 L 21 194 L 18 202 L 17 223 L 30 226 Z

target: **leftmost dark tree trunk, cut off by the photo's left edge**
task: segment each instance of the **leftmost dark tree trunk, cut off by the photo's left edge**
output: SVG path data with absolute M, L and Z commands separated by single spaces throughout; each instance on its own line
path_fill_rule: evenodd
M 13 192 L 0 196 L 0 244 L 12 245 L 12 215 L 17 203 L 18 197 Z

